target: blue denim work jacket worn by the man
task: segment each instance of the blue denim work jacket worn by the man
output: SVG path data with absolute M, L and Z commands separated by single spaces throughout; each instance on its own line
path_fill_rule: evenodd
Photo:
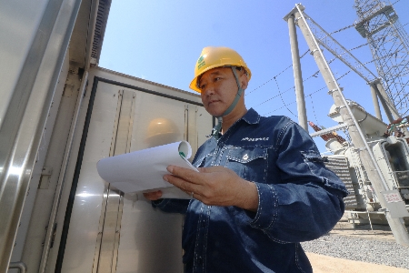
M 312 272 L 300 242 L 329 232 L 344 213 L 344 183 L 324 166 L 313 139 L 285 116 L 254 109 L 218 140 L 209 138 L 195 167 L 224 166 L 253 181 L 256 212 L 198 200 L 154 202 L 185 213 L 185 272 Z

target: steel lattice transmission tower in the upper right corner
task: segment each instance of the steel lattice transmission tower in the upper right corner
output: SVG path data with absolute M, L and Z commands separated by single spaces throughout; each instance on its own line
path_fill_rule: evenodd
M 409 112 L 409 38 L 391 4 L 355 0 L 355 29 L 368 41 L 387 95 L 403 116 Z

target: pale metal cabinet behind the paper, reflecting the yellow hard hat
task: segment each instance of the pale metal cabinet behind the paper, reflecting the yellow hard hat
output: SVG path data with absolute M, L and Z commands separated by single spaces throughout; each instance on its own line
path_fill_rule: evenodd
M 77 162 L 81 170 L 72 214 L 66 216 L 70 219 L 62 272 L 111 272 L 111 268 L 112 272 L 115 268 L 116 272 L 183 272 L 183 216 L 154 209 L 142 194 L 117 195 L 98 176 L 96 162 L 113 153 L 182 139 L 188 140 L 195 152 L 210 133 L 213 119 L 195 94 L 101 68 L 90 72 L 90 82 L 93 74 L 100 80 L 96 89 L 89 88 L 95 89 L 95 98 L 90 99 L 88 111 L 92 109 L 92 114 L 89 124 L 85 123 L 84 157 Z M 153 129 L 158 120 L 170 126 Z M 162 139 L 152 141 L 151 136 L 157 134 L 162 134 Z M 113 147 L 122 152 L 113 152 Z M 117 204 L 106 205 L 110 198 Z

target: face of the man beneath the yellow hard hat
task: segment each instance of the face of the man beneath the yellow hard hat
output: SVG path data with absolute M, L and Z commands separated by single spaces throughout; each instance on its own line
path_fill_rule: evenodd
M 234 68 L 235 69 L 235 68 Z M 243 71 L 237 71 L 239 81 L 243 81 Z M 244 88 L 246 85 L 244 86 Z M 199 81 L 202 102 L 207 112 L 212 116 L 222 116 L 232 104 L 237 94 L 238 86 L 230 67 L 216 67 L 206 71 Z

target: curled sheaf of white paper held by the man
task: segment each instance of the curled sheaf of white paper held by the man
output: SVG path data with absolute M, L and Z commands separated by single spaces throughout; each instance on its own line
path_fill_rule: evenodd
M 181 157 L 180 152 L 184 153 L 185 157 Z M 187 161 L 191 156 L 190 144 L 180 141 L 106 157 L 98 161 L 96 169 L 100 177 L 124 193 L 160 189 L 164 198 L 190 198 L 184 191 L 166 182 L 163 177 L 169 174 L 166 170 L 169 165 L 198 171 Z

